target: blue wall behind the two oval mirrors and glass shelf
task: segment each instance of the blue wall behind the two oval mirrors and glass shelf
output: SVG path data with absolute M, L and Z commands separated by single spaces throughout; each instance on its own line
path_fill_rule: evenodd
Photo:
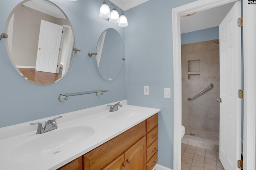
M 22 0 L 1 0 L 0 32 L 12 9 Z M 0 127 L 32 121 L 43 117 L 67 113 L 126 99 L 125 64 L 118 78 L 107 82 L 98 73 L 95 57 L 88 51 L 96 51 L 101 33 L 112 27 L 124 41 L 124 28 L 99 17 L 102 0 L 52 0 L 68 16 L 75 33 L 76 53 L 74 62 L 64 78 L 58 82 L 40 86 L 28 82 L 14 69 L 6 52 L 5 40 L 0 40 Z M 107 1 L 108 2 L 108 1 Z M 108 2 L 109 3 L 109 2 Z M 106 89 L 104 96 L 87 94 L 69 97 L 59 102 L 60 93 Z M 117 95 L 118 94 L 118 95 Z

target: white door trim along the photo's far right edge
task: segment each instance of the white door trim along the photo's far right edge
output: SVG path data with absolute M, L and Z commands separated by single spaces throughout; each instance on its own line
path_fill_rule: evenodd
M 256 6 L 243 1 L 244 18 L 244 170 L 255 170 Z

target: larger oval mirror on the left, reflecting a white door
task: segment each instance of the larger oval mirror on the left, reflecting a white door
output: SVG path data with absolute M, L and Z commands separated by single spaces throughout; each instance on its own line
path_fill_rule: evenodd
M 68 72 L 74 59 L 74 31 L 56 4 L 20 2 L 10 13 L 5 32 L 10 61 L 28 81 L 48 85 Z

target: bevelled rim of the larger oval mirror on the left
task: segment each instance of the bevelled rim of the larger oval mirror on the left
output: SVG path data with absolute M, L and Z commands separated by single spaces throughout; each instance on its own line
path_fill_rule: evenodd
M 7 21 L 6 21 L 5 33 L 7 33 L 7 31 L 8 31 L 8 25 L 10 24 L 10 19 L 12 18 L 13 14 L 14 14 L 15 8 L 16 8 L 17 6 L 21 6 L 22 4 L 24 4 L 25 2 L 28 2 L 28 1 L 31 1 L 31 0 L 22 0 L 20 3 L 18 3 L 18 4 L 12 9 L 12 11 L 10 12 L 10 14 L 9 14 L 9 16 L 8 16 L 8 18 L 7 18 Z M 7 51 L 8 57 L 9 57 L 9 59 L 10 59 L 12 65 L 13 65 L 14 68 L 16 69 L 16 71 L 17 71 L 23 78 L 25 78 L 26 80 L 28 80 L 29 82 L 34 83 L 34 84 L 37 84 L 37 85 L 42 85 L 42 86 L 54 84 L 54 83 L 58 82 L 60 79 L 62 79 L 62 78 L 67 74 L 67 72 L 69 71 L 69 69 L 70 69 L 70 67 L 71 67 L 71 65 L 72 65 L 72 63 L 73 63 L 74 56 L 75 56 L 75 54 L 76 54 L 76 51 L 74 51 L 74 49 L 76 49 L 76 41 L 75 41 L 74 29 L 73 29 L 73 27 L 72 27 L 72 24 L 71 24 L 70 20 L 69 20 L 68 17 L 66 16 L 65 12 L 64 12 L 58 5 L 56 5 L 55 3 L 53 3 L 53 2 L 50 1 L 50 0 L 44 0 L 44 1 L 46 1 L 46 2 L 48 2 L 48 3 L 50 3 L 50 4 L 54 5 L 54 6 L 56 6 L 56 7 L 62 12 L 62 14 L 66 17 L 67 21 L 70 23 L 70 28 L 71 28 L 71 30 L 72 30 L 72 34 L 73 34 L 73 38 L 74 38 L 73 48 L 72 48 L 72 53 L 73 53 L 73 55 L 71 56 L 72 59 L 71 59 L 71 61 L 70 61 L 70 64 L 69 64 L 69 66 L 68 66 L 68 69 L 67 69 L 66 72 L 63 74 L 63 76 L 61 76 L 60 78 L 58 78 L 58 80 L 56 80 L 56 81 L 54 81 L 54 82 L 52 82 L 52 83 L 46 83 L 46 84 L 38 84 L 38 83 L 36 83 L 36 82 L 30 81 L 26 76 L 24 76 L 24 74 L 22 74 L 22 72 L 17 68 L 16 64 L 15 64 L 14 61 L 12 60 L 12 56 L 11 56 L 10 51 L 9 51 L 8 38 L 5 39 L 6 51 Z

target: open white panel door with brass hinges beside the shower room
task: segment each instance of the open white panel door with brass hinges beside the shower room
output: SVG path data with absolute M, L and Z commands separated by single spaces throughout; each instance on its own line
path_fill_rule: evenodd
M 219 26 L 220 31 L 220 161 L 225 170 L 236 170 L 241 154 L 241 27 L 240 1 Z

